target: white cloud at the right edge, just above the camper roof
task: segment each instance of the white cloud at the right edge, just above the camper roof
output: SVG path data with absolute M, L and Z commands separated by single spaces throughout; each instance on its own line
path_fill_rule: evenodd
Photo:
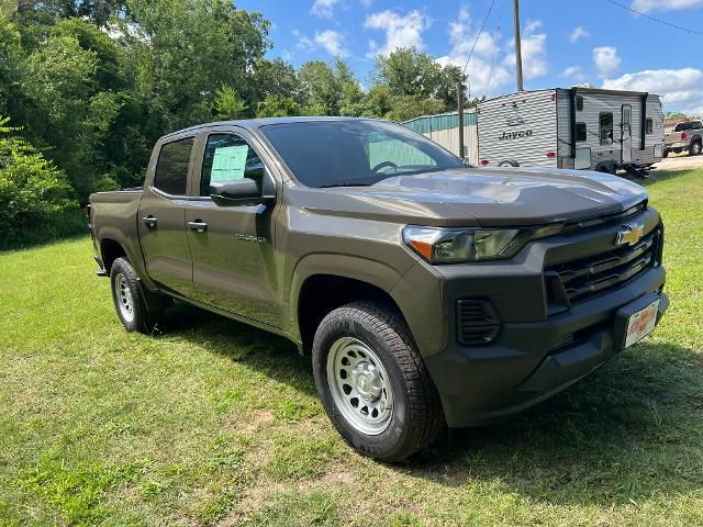
M 609 90 L 648 91 L 662 96 L 667 111 L 703 114 L 703 70 L 698 68 L 648 69 L 603 81 Z

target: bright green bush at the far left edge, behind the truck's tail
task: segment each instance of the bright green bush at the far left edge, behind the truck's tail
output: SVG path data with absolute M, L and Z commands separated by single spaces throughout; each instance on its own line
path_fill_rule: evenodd
M 64 214 L 78 203 L 66 175 L 16 136 L 9 121 L 0 116 L 0 247 L 38 233 L 68 234 Z

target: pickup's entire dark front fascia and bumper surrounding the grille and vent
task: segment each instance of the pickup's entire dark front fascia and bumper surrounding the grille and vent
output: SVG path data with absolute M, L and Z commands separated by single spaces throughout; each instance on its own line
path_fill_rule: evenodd
M 651 209 L 638 220 L 647 232 L 661 229 Z M 450 427 L 482 425 L 526 408 L 617 355 L 623 343 L 623 321 L 617 315 L 622 307 L 658 298 L 659 321 L 669 304 L 661 265 L 568 309 L 550 309 L 544 267 L 583 256 L 579 253 L 595 255 L 612 248 L 620 226 L 538 240 L 517 261 L 440 270 L 445 347 L 423 355 Z M 490 344 L 459 344 L 455 310 L 466 298 L 486 299 L 495 306 L 502 324 Z

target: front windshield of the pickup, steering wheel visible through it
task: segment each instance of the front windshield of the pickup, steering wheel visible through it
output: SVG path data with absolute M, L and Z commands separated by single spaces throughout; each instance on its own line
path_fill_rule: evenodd
M 382 121 L 309 121 L 260 130 L 308 187 L 369 186 L 395 175 L 464 166 L 435 143 Z

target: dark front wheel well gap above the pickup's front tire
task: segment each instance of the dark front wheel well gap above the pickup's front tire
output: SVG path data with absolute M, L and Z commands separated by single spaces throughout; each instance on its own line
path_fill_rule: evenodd
M 402 316 L 391 295 L 368 282 L 334 274 L 314 274 L 308 278 L 298 296 L 298 325 L 303 349 L 310 351 L 315 330 L 327 313 L 359 300 L 388 304 Z

